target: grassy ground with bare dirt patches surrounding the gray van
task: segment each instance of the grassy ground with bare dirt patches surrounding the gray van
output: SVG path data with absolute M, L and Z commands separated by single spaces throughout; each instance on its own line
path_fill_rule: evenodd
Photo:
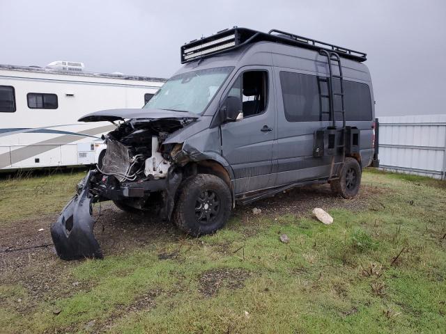
M 323 197 L 332 225 L 310 187 L 198 239 L 105 206 L 104 260 L 15 251 L 49 240 L 81 177 L 0 180 L 1 332 L 445 333 L 446 182 L 370 170 L 358 198 Z

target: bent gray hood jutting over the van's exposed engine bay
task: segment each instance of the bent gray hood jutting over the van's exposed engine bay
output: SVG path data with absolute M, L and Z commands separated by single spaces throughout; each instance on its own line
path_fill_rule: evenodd
M 79 122 L 102 122 L 129 119 L 160 120 L 162 118 L 199 118 L 195 113 L 164 109 L 107 109 L 95 111 L 79 118 Z

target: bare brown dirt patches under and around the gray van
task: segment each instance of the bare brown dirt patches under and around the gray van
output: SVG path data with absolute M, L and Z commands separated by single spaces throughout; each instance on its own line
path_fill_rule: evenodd
M 306 186 L 279 194 L 273 198 L 260 200 L 252 205 L 239 206 L 233 212 L 241 221 L 249 221 L 254 216 L 254 207 L 261 209 L 262 216 L 278 216 L 281 214 L 306 215 L 314 207 L 331 209 L 342 207 L 352 211 L 370 205 L 380 205 L 370 200 L 374 193 L 380 192 L 374 186 L 362 186 L 360 194 L 353 200 L 345 200 L 335 196 L 329 185 Z M 100 215 L 99 207 L 95 206 L 95 237 L 98 239 L 105 257 L 124 253 L 126 251 L 146 246 L 161 244 L 164 241 L 178 241 L 185 238 L 185 234 L 177 230 L 174 225 L 160 221 L 151 214 L 127 214 L 114 207 L 112 202 L 102 203 Z M 61 277 L 59 269 L 75 266 L 77 261 L 63 262 L 57 257 L 49 227 L 57 215 L 36 216 L 27 221 L 17 221 L 8 230 L 0 231 L 0 279 L 4 284 L 20 283 L 30 293 L 31 299 L 50 301 L 61 296 L 70 296 L 82 287 L 72 278 Z M 161 253 L 160 260 L 169 258 L 171 254 Z M 244 273 L 247 276 L 249 273 Z M 210 278 L 210 276 L 215 276 Z M 228 280 L 224 273 L 210 272 L 202 278 L 203 294 L 210 296 L 219 288 L 220 283 Z M 229 278 L 231 278 L 229 274 Z M 234 286 L 242 284 L 234 283 Z M 1 297 L 0 297 L 1 299 Z M 152 302 L 147 296 L 148 303 Z M 1 302 L 1 300 L 0 300 Z M 33 303 L 26 303 L 32 307 Z M 17 310 L 26 312 L 17 303 Z M 138 308 L 138 305 L 134 305 Z M 55 311 L 57 312 L 57 310 Z

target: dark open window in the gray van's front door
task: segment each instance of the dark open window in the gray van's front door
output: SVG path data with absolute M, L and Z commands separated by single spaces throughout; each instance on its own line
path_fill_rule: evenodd
M 249 71 L 243 73 L 243 117 L 259 115 L 266 109 L 268 73 Z

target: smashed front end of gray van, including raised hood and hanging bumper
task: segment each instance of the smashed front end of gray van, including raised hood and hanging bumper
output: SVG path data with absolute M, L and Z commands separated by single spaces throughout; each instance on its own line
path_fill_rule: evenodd
M 129 118 L 125 120 L 125 118 Z M 63 260 L 102 258 L 93 234 L 92 205 L 112 200 L 124 211 L 157 212 L 169 220 L 174 195 L 183 180 L 180 167 L 188 161 L 182 143 L 167 137 L 197 120 L 192 113 L 117 109 L 93 113 L 80 121 L 121 124 L 105 136 L 107 150 L 101 164 L 77 185 L 77 193 L 51 228 L 56 253 Z

